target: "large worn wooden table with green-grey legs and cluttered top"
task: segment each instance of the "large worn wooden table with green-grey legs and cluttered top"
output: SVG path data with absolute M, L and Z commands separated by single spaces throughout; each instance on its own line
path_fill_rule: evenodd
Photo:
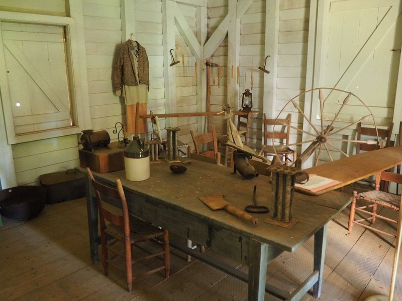
M 197 196 L 225 194 L 225 199 L 243 209 L 252 203 L 254 185 L 261 205 L 269 206 L 269 177 L 243 180 L 231 175 L 231 170 L 194 161 L 186 165 L 184 174 L 172 174 L 168 164 L 152 164 L 151 178 L 142 182 L 125 179 L 125 171 L 108 174 L 94 173 L 97 181 L 115 185 L 120 178 L 126 194 L 129 211 L 200 245 L 249 265 L 249 274 L 223 265 L 208 254 L 190 248 L 173 247 L 249 283 L 249 300 L 263 300 L 267 291 L 281 299 L 298 300 L 311 287 L 318 297 L 321 293 L 327 224 L 350 202 L 350 195 L 329 192 L 321 196 L 295 193 L 293 216 L 298 222 L 285 229 L 263 222 L 268 214 L 253 214 L 258 225 L 243 221 L 225 211 L 212 211 Z M 81 171 L 84 171 L 81 169 Z M 87 210 L 91 258 L 98 260 L 97 206 L 87 181 Z M 314 214 L 312 214 L 314 212 Z M 283 251 L 295 251 L 314 235 L 314 272 L 291 294 L 266 284 L 267 264 Z

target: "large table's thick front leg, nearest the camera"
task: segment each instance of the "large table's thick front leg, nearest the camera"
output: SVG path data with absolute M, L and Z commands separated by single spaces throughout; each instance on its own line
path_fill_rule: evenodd
M 263 301 L 267 279 L 268 245 L 250 239 L 248 301 Z

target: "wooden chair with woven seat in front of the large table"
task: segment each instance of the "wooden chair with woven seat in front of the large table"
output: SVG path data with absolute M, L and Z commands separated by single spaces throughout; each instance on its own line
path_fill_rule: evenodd
M 100 222 L 100 241 L 102 245 L 102 264 L 104 267 L 105 275 L 108 275 L 108 265 L 115 267 L 121 272 L 126 273 L 127 277 L 127 287 L 128 291 L 131 291 L 133 282 L 133 264 L 141 260 L 150 259 L 154 257 L 159 257 L 163 255 L 164 265 L 153 270 L 144 272 L 140 275 L 135 276 L 138 278 L 145 276 L 162 269 L 165 270 L 166 279 L 169 278 L 170 270 L 170 253 L 169 253 L 169 233 L 167 230 L 159 229 L 158 227 L 151 225 L 139 218 L 134 216 L 129 216 L 126 197 L 124 195 L 122 183 L 119 179 L 116 179 L 117 189 L 105 186 L 96 182 L 93 179 L 92 173 L 89 168 L 86 168 L 88 172 L 89 179 L 95 189 L 97 205 L 99 209 L 99 222 Z M 115 199 L 117 202 L 120 201 L 122 206 L 123 215 L 116 214 L 103 206 L 103 197 L 107 199 Z M 105 221 L 110 222 L 106 224 Z M 113 237 L 111 241 L 107 240 L 107 236 Z M 148 252 L 142 246 L 139 246 L 139 242 L 152 240 L 157 242 L 155 238 L 163 237 L 163 251 L 158 253 Z M 116 247 L 112 246 L 117 242 L 122 242 L 124 244 L 124 253 L 117 250 Z M 159 244 L 159 242 L 157 242 Z M 148 253 L 149 255 L 132 259 L 132 246 L 139 248 L 140 250 Z M 111 251 L 113 254 L 108 257 L 108 253 Z M 125 270 L 120 266 L 116 265 L 112 259 L 120 256 L 126 261 Z M 161 258 L 160 258 L 161 259 Z

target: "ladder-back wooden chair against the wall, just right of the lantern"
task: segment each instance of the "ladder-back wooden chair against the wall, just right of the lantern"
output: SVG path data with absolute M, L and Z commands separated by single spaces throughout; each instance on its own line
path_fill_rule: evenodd
M 264 140 L 265 140 L 265 148 L 263 150 L 263 154 L 265 157 L 268 156 L 275 156 L 275 151 L 273 149 L 272 145 L 268 145 L 272 142 L 273 139 L 281 139 L 282 143 L 281 146 L 276 146 L 275 150 L 278 156 L 283 157 L 283 161 L 286 163 L 286 161 L 290 161 L 289 155 L 292 156 L 292 161 L 294 162 L 296 160 L 296 150 L 291 149 L 290 147 L 286 146 L 289 143 L 289 134 L 290 134 L 290 123 L 291 123 L 291 114 L 288 114 L 285 119 L 267 119 L 264 113 Z M 268 131 L 268 126 L 272 126 L 275 124 L 275 126 L 282 124 L 284 126 L 283 131 L 273 131 L 270 132 Z

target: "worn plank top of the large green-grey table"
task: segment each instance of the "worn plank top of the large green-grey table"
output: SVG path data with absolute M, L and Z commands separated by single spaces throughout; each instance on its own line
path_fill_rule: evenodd
M 260 176 L 244 180 L 239 174 L 232 175 L 231 169 L 198 161 L 193 161 L 186 167 L 184 174 L 173 174 L 169 165 L 163 161 L 160 164 L 151 164 L 150 179 L 141 182 L 126 180 L 124 170 L 93 174 L 95 179 L 109 184 L 114 184 L 116 178 L 119 178 L 128 202 L 130 192 L 142 195 L 151 202 L 156 201 L 213 225 L 225 227 L 234 233 L 256 238 L 287 251 L 294 251 L 302 245 L 351 202 L 351 196 L 340 192 L 330 192 L 322 196 L 295 193 L 293 216 L 298 222 L 292 229 L 265 223 L 264 219 L 268 214 L 251 214 L 259 220 L 258 225 L 252 225 L 226 211 L 212 211 L 197 197 L 224 194 L 226 201 L 244 210 L 246 205 L 252 204 L 253 187 L 258 185 L 258 204 L 269 207 L 269 177 Z

